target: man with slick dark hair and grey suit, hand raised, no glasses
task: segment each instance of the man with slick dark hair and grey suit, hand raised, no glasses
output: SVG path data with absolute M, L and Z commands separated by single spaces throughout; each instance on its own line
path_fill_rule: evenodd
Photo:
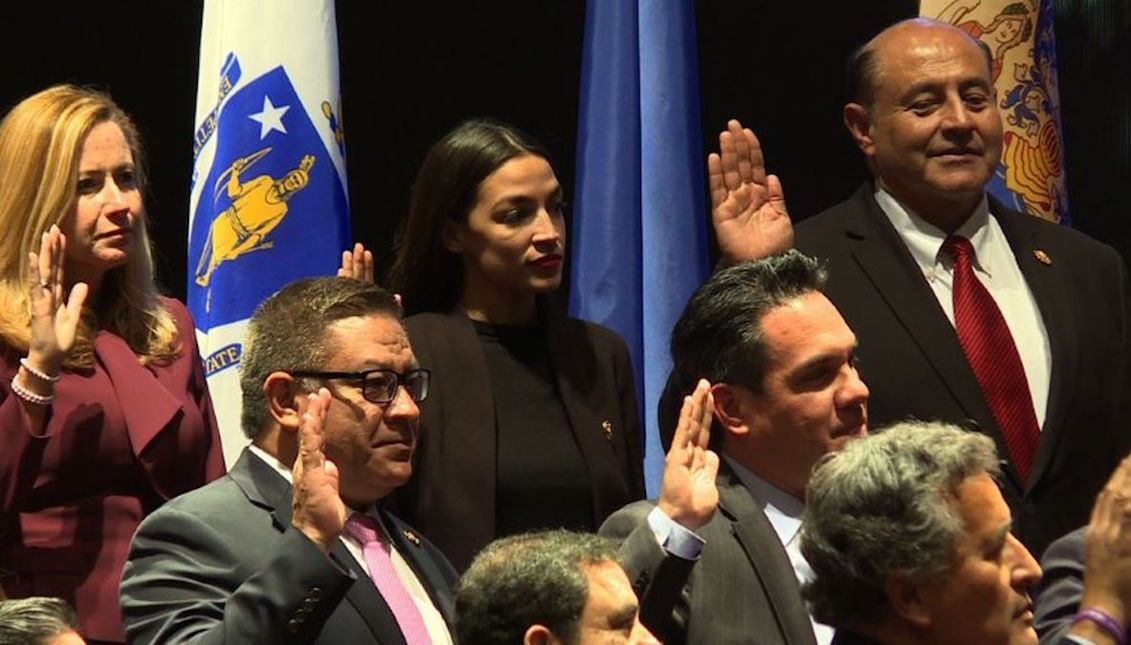
M 666 643 L 831 637 L 802 604 L 808 565 L 796 533 L 813 464 L 867 433 L 869 392 L 856 338 L 823 283 L 817 261 L 796 251 L 736 265 L 700 286 L 675 325 L 676 378 L 699 385 L 684 399 L 659 499 L 601 528 L 624 540 L 641 621 Z M 685 421 L 711 401 L 705 452 L 707 423 L 697 433 Z

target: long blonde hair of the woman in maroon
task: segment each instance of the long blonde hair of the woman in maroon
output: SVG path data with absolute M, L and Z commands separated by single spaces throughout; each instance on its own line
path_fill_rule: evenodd
M 19 352 L 31 342 L 27 255 L 77 203 L 78 166 L 90 130 L 111 121 L 130 147 L 139 189 L 145 187 L 137 128 L 106 94 L 57 85 L 16 105 L 0 121 L 0 341 Z M 145 215 L 124 265 L 106 273 L 96 302 L 88 302 L 68 367 L 90 367 L 95 329 L 121 336 L 143 363 L 176 355 L 176 326 L 154 284 Z

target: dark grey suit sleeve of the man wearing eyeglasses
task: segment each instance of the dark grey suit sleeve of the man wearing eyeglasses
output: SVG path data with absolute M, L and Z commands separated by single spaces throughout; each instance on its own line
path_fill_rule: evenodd
M 311 643 L 353 574 L 291 527 L 258 571 L 199 517 L 165 507 L 138 528 L 121 584 L 135 644 Z

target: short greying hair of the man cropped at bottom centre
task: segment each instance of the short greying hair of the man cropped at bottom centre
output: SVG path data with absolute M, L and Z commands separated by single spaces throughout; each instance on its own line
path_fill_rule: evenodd
M 604 561 L 620 564 L 616 543 L 589 533 L 559 530 L 495 540 L 459 579 L 457 643 L 521 643 L 532 625 L 575 643 L 589 595 L 582 567 Z

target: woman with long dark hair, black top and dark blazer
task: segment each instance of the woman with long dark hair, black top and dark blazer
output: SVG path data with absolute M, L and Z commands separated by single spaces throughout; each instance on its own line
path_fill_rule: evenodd
M 460 570 L 497 536 L 595 531 L 645 493 L 628 349 L 547 298 L 562 195 L 541 146 L 481 120 L 437 141 L 413 187 L 389 282 L 432 389 L 397 501 Z

